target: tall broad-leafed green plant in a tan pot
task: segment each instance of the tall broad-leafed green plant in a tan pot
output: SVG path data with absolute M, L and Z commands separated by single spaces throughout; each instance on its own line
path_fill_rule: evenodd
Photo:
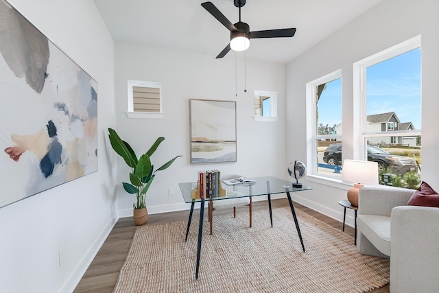
M 119 156 L 123 158 L 125 163 L 131 168 L 130 172 L 130 183 L 122 183 L 123 189 L 125 189 L 128 194 L 135 194 L 137 202 L 133 204 L 134 206 L 134 222 L 137 225 L 143 225 L 147 222 L 147 209 L 145 205 L 145 196 L 147 190 L 150 188 L 152 180 L 156 176 L 157 171 L 162 171 L 167 169 L 174 161 L 179 157 L 176 156 L 171 161 L 165 163 L 165 165 L 154 171 L 154 166 L 151 164 L 150 157 L 157 150 L 158 145 L 165 140 L 164 137 L 158 137 L 156 142 L 151 146 L 150 150 L 142 154 L 139 159 L 132 150 L 131 146 L 123 141 L 117 132 L 108 128 L 108 137 L 110 138 L 110 143 L 112 149 L 115 150 Z

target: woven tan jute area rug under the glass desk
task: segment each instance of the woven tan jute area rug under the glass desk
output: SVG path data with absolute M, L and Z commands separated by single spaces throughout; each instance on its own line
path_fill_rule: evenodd
M 233 212 L 232 212 L 233 213 Z M 114 292 L 368 292 L 389 282 L 388 259 L 361 255 L 346 235 L 289 208 L 213 216 L 204 221 L 200 279 L 195 281 L 198 219 L 137 228 Z

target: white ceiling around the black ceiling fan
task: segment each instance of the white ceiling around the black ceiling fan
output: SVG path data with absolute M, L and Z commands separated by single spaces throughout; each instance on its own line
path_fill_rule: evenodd
M 246 58 L 287 63 L 382 0 L 247 0 L 241 21 L 250 31 L 296 27 L 293 38 L 250 40 Z M 199 52 L 215 58 L 230 32 L 200 0 L 95 0 L 117 43 Z M 231 23 L 233 0 L 212 0 Z M 229 52 L 224 58 L 235 58 Z

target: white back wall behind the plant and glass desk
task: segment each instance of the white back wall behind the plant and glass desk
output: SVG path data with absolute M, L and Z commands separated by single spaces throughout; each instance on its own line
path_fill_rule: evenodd
M 246 62 L 244 93 L 244 60 L 237 62 L 237 96 L 235 96 L 235 54 L 223 59 L 186 51 L 115 45 L 117 132 L 134 151 L 146 152 L 157 137 L 166 138 L 152 156 L 160 167 L 172 157 L 178 159 L 157 173 L 147 193 L 149 213 L 189 209 L 184 204 L 178 183 L 197 179 L 200 169 L 219 169 L 222 174 L 245 176 L 287 176 L 285 159 L 285 65 Z M 129 119 L 127 80 L 145 80 L 163 84 L 164 119 Z M 278 122 L 255 122 L 253 92 L 278 93 Z M 190 165 L 189 99 L 221 99 L 237 102 L 237 163 Z M 121 216 L 132 215 L 135 200 L 121 187 L 128 180 L 128 167 L 119 158 L 117 175 L 118 202 Z M 168 189 L 174 196 L 168 196 Z

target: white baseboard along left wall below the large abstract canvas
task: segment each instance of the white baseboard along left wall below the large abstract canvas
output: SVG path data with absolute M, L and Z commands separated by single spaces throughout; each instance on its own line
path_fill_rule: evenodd
M 90 266 L 93 259 L 95 259 L 95 256 L 99 252 L 99 249 L 101 249 L 108 235 L 110 235 L 110 232 L 115 226 L 117 220 L 117 216 L 115 216 L 110 220 L 110 222 L 108 222 L 108 224 L 106 224 L 102 233 L 95 240 L 95 243 L 93 243 L 86 255 L 84 255 L 84 257 L 82 258 L 80 264 L 75 268 L 75 270 L 73 270 L 70 277 L 67 278 L 67 281 L 62 286 L 62 290 L 60 292 L 73 292 L 73 290 L 75 290 L 76 286 L 78 285 L 78 283 L 80 283 L 82 277 L 88 269 L 88 266 Z

